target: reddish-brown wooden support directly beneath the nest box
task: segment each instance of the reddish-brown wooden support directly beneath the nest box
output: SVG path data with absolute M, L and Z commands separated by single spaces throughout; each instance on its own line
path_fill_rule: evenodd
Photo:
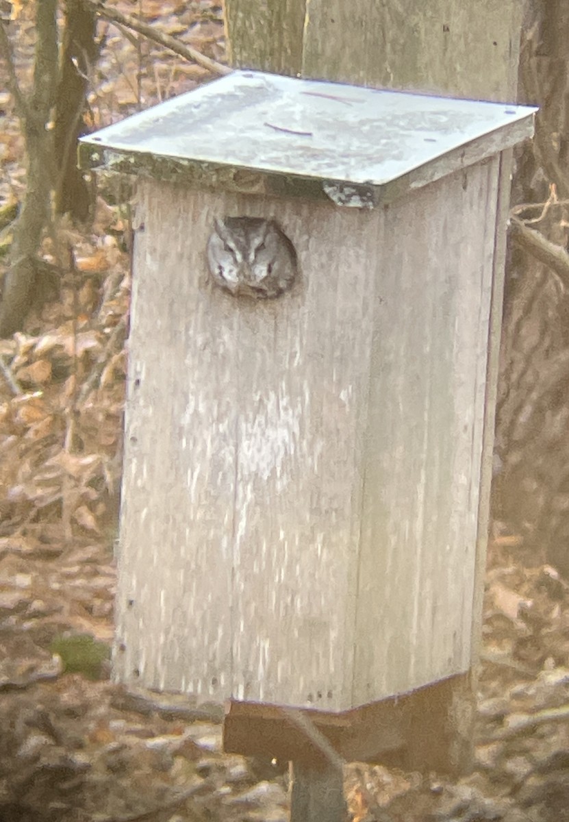
M 342 713 L 302 713 L 348 762 L 462 774 L 471 764 L 473 709 L 470 675 L 460 674 Z M 295 767 L 306 769 L 329 768 L 329 756 L 288 713 L 277 705 L 231 701 L 224 750 L 294 760 Z

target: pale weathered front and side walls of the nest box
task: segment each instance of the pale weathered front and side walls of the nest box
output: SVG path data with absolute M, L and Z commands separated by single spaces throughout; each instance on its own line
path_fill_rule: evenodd
M 345 710 L 465 671 L 497 159 L 384 210 L 143 183 L 119 679 Z M 271 301 L 206 275 L 277 219 Z

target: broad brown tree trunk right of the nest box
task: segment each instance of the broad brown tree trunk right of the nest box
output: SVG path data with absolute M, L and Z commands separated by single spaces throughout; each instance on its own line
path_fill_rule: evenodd
M 497 404 L 493 507 L 569 573 L 569 5 L 532 0 L 520 101 L 539 104 L 517 156 Z M 539 558 L 539 556 L 538 556 Z

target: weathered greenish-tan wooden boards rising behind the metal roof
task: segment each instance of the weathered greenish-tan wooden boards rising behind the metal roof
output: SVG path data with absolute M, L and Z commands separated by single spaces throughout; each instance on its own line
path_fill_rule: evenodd
M 225 0 L 235 67 L 513 101 L 519 0 Z

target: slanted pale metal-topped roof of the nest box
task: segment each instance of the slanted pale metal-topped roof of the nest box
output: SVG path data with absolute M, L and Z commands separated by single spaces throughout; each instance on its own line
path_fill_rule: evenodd
M 185 170 L 213 187 L 377 205 L 516 145 L 536 110 L 236 71 L 81 138 L 80 157 L 85 168 Z

